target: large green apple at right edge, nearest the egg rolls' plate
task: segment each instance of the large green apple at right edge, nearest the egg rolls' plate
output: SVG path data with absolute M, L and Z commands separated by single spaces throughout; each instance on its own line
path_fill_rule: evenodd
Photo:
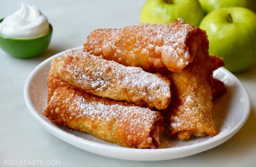
M 212 11 L 200 23 L 210 41 L 210 54 L 225 61 L 226 69 L 239 72 L 256 62 L 256 14 L 244 7 Z

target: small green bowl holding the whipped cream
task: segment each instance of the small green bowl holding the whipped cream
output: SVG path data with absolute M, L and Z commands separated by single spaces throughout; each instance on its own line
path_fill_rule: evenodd
M 4 18 L 0 19 L 0 23 Z M 3 51 L 15 58 L 32 58 L 45 51 L 48 47 L 52 34 L 53 27 L 50 25 L 49 32 L 38 38 L 30 39 L 15 39 L 6 38 L 0 35 L 0 47 Z

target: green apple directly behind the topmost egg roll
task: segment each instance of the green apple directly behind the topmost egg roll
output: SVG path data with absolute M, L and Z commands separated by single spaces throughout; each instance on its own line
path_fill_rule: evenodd
M 203 8 L 198 0 L 147 0 L 141 14 L 141 23 L 167 24 L 175 18 L 199 25 L 203 18 Z

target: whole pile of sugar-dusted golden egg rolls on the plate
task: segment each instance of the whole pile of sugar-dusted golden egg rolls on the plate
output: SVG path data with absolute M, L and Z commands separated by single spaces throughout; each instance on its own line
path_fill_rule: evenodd
M 158 148 L 161 112 L 178 140 L 214 136 L 212 100 L 226 88 L 212 76 L 224 62 L 208 47 L 205 31 L 182 19 L 97 29 L 83 52 L 68 50 L 51 62 L 44 115 L 131 148 Z

